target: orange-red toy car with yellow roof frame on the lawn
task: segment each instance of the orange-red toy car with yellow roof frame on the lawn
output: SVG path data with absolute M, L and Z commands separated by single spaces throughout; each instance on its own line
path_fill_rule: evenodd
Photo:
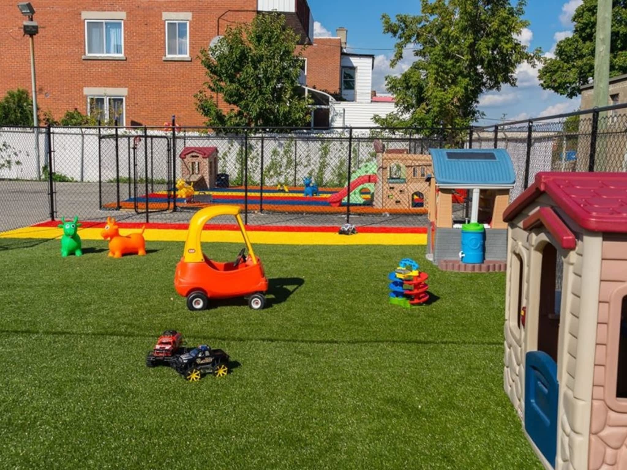
M 209 259 L 201 249 L 204 224 L 216 216 L 234 216 L 244 238 L 245 248 L 235 261 L 220 263 Z M 248 256 L 246 256 L 248 251 Z M 260 310 L 265 306 L 268 279 L 261 260 L 255 256 L 240 217 L 239 206 L 211 206 L 196 212 L 189 221 L 187 240 L 181 261 L 176 265 L 174 288 L 187 297 L 189 310 L 204 310 L 209 299 L 248 297 L 248 306 Z

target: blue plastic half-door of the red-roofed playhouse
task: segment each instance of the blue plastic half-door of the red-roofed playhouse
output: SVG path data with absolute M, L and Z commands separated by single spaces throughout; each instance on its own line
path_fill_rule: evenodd
M 547 353 L 525 356 L 525 431 L 555 467 L 557 450 L 557 364 Z

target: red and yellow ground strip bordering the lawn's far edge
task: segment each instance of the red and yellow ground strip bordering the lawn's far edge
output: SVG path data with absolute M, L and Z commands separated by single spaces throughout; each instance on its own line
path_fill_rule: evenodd
M 58 221 L 46 221 L 0 233 L 0 238 L 61 238 L 63 230 Z M 101 240 L 105 222 L 83 221 L 78 234 L 83 240 Z M 146 241 L 185 241 L 187 224 L 142 224 L 119 222 L 120 234 L 128 235 L 145 226 Z M 340 235 L 331 226 L 247 226 L 251 243 L 285 245 L 425 245 L 426 227 L 359 227 L 354 235 Z M 207 224 L 201 236 L 203 242 L 240 243 L 240 229 L 235 224 Z

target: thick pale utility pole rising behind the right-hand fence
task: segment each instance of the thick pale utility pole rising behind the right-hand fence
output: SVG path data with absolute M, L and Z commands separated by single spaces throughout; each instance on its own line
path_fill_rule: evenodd
M 596 44 L 594 46 L 594 106 L 609 104 L 609 48 L 612 31 L 612 0 L 598 0 L 596 7 Z M 599 117 L 604 117 L 601 113 Z M 605 119 L 599 120 L 598 130 L 605 127 Z M 596 152 L 596 167 L 605 170 L 605 155 Z

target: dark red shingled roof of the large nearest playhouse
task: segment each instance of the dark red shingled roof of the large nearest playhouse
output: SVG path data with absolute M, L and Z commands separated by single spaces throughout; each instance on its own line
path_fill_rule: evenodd
M 627 173 L 540 172 L 505 209 L 503 220 L 512 221 L 544 193 L 584 229 L 627 233 Z

